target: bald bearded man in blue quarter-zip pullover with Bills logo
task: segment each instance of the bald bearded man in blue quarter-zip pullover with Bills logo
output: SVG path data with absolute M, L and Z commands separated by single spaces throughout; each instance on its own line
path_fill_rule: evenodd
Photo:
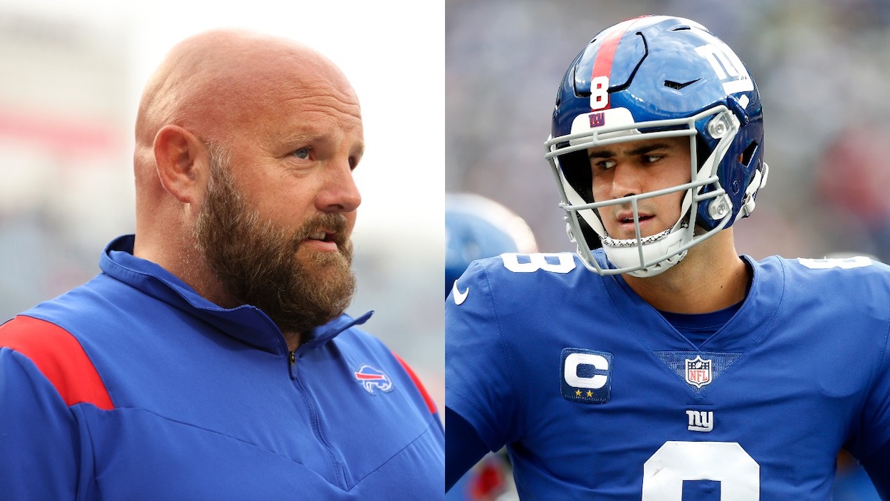
M 135 234 L 0 326 L 4 499 L 442 498 L 433 401 L 344 314 L 364 139 L 343 73 L 201 33 L 135 136 Z

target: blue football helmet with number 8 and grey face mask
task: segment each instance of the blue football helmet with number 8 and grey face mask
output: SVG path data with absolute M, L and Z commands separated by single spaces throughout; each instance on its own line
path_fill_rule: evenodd
M 670 136 L 689 137 L 690 182 L 594 200 L 588 148 Z M 748 217 L 768 172 L 754 79 L 728 45 L 677 17 L 623 21 L 590 41 L 562 78 L 545 145 L 570 240 L 601 275 L 653 276 L 672 267 L 693 245 Z M 641 235 L 637 201 L 680 191 L 676 224 Z M 635 238 L 607 234 L 598 209 L 618 204 L 633 209 Z M 594 258 L 601 244 L 611 266 Z

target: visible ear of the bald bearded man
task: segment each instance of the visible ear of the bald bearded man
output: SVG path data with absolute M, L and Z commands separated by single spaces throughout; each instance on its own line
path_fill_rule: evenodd
M 207 149 L 197 136 L 174 125 L 155 136 L 155 164 L 164 189 L 182 203 L 195 203 L 209 177 Z

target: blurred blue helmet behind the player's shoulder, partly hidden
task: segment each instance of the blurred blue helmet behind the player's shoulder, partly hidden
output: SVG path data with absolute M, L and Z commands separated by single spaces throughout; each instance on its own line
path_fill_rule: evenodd
M 445 193 L 445 295 L 475 259 L 537 252 L 524 219 L 474 193 Z

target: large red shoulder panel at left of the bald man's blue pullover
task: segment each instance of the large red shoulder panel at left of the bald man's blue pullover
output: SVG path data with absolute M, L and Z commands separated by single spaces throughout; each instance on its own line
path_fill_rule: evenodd
M 28 357 L 69 406 L 93 404 L 114 408 L 108 390 L 80 342 L 65 329 L 30 316 L 0 325 L 0 347 Z

